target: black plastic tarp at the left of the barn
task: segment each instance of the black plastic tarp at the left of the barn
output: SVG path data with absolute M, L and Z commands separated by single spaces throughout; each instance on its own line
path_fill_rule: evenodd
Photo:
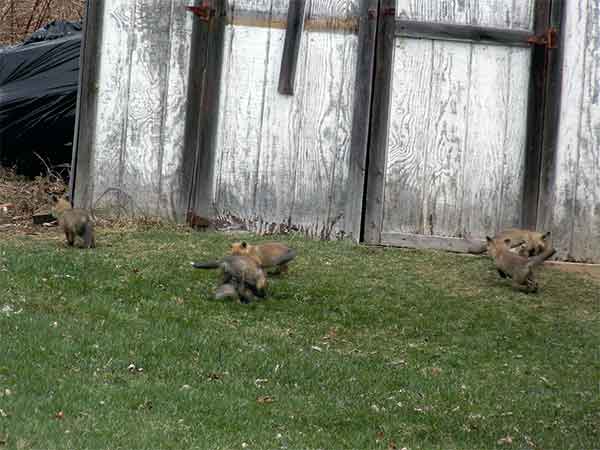
M 0 164 L 37 175 L 41 162 L 35 153 L 53 164 L 71 161 L 81 46 L 78 28 L 78 24 L 52 23 L 26 43 L 0 49 Z

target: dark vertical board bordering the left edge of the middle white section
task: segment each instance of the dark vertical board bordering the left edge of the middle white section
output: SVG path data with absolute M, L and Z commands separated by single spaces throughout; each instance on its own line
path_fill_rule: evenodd
M 200 127 L 198 129 L 198 153 L 195 168 L 194 186 L 190 199 L 192 213 L 202 217 L 212 217 L 214 165 L 218 142 L 218 117 L 223 72 L 223 50 L 225 40 L 225 4 L 211 0 L 209 6 L 215 16 L 206 25 L 206 63 L 203 76 L 200 105 Z

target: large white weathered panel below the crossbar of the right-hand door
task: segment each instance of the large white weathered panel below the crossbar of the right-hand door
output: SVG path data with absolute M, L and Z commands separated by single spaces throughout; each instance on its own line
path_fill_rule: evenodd
M 518 225 L 529 50 L 396 45 L 383 233 L 483 238 Z

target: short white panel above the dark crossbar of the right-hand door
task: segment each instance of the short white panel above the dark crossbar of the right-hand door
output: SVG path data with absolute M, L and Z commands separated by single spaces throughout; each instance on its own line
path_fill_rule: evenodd
M 535 0 L 397 0 L 402 19 L 530 30 Z

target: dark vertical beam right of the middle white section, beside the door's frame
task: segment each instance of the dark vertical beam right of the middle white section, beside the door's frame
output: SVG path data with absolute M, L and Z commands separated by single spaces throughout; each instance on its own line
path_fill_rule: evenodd
M 344 217 L 352 239 L 361 239 L 364 212 L 364 193 L 371 123 L 371 101 L 375 76 L 375 40 L 377 38 L 378 0 L 361 2 L 358 24 L 358 55 L 354 85 L 354 109 L 350 137 L 350 161 L 348 168 L 348 201 Z

